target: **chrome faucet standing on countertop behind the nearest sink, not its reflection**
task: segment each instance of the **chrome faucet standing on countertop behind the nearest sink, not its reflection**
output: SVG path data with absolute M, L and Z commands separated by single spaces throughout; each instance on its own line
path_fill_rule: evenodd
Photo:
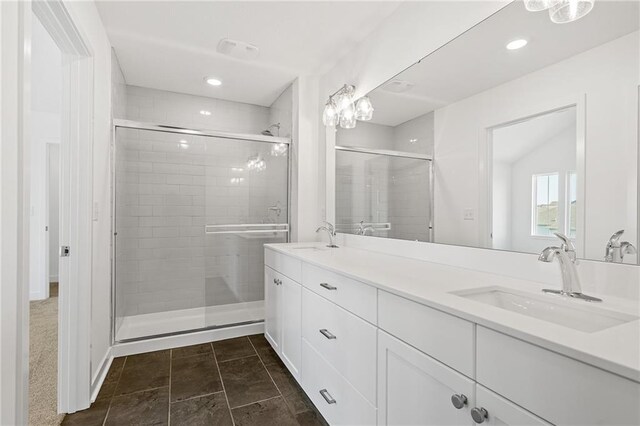
M 562 296 L 575 297 L 576 299 L 586 300 L 588 302 L 602 302 L 602 299 L 597 297 L 587 296 L 582 293 L 582 287 L 580 286 L 580 277 L 578 277 L 578 270 L 576 264 L 578 263 L 576 257 L 576 248 L 566 235 L 560 233 L 554 233 L 558 237 L 562 244 L 560 247 L 551 246 L 542 250 L 538 260 L 541 262 L 552 262 L 553 259 L 558 259 L 560 264 L 560 272 L 562 274 L 562 290 L 544 289 L 545 293 L 560 294 Z

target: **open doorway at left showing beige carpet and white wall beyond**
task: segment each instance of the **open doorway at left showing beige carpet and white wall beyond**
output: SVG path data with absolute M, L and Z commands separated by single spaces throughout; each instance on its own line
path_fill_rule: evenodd
M 29 424 L 58 414 L 58 294 L 62 52 L 31 13 Z M 62 283 L 64 285 L 64 283 Z

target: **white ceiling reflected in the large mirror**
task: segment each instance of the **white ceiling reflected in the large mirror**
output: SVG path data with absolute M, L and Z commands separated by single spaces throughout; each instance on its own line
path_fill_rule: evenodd
M 639 4 L 598 0 L 589 15 L 558 25 L 547 12 L 532 13 L 521 1 L 511 3 L 391 80 L 409 81 L 411 89 L 393 93 L 383 84 L 373 91 L 373 122 L 397 126 L 636 31 Z M 507 50 L 505 45 L 517 38 L 529 44 Z

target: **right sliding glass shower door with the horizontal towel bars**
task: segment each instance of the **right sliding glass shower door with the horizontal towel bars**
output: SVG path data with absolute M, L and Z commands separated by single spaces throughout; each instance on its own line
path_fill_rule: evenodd
M 205 322 L 264 319 L 264 244 L 288 241 L 288 145 L 207 144 Z

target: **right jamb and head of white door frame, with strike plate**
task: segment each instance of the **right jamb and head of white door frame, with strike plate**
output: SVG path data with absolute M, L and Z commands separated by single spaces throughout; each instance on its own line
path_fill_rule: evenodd
M 61 0 L 33 2 L 62 52 L 60 141 L 58 412 L 90 405 L 93 57 L 87 38 Z

